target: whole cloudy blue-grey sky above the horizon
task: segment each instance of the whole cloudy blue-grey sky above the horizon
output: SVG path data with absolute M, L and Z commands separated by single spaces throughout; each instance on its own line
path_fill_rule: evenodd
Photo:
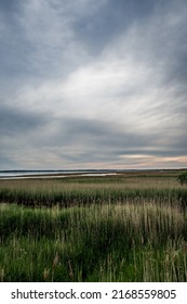
M 0 169 L 187 167 L 186 0 L 1 0 Z

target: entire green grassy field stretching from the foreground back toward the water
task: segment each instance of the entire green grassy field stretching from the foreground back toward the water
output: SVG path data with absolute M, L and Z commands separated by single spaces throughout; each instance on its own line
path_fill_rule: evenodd
M 187 281 L 178 174 L 0 180 L 0 280 Z

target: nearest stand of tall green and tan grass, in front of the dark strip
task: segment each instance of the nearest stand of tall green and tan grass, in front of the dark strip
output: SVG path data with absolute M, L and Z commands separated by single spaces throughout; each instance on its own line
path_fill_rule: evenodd
M 186 220 L 178 207 L 149 201 L 67 210 L 4 204 L 1 280 L 186 281 Z

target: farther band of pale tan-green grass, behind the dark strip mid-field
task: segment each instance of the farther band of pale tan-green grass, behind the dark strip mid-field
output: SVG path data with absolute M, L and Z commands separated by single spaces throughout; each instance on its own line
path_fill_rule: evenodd
M 1 180 L 0 202 L 26 206 L 69 207 L 102 203 L 138 202 L 142 199 L 187 205 L 187 188 L 175 178 L 117 176 L 103 178 L 66 178 L 51 180 Z

